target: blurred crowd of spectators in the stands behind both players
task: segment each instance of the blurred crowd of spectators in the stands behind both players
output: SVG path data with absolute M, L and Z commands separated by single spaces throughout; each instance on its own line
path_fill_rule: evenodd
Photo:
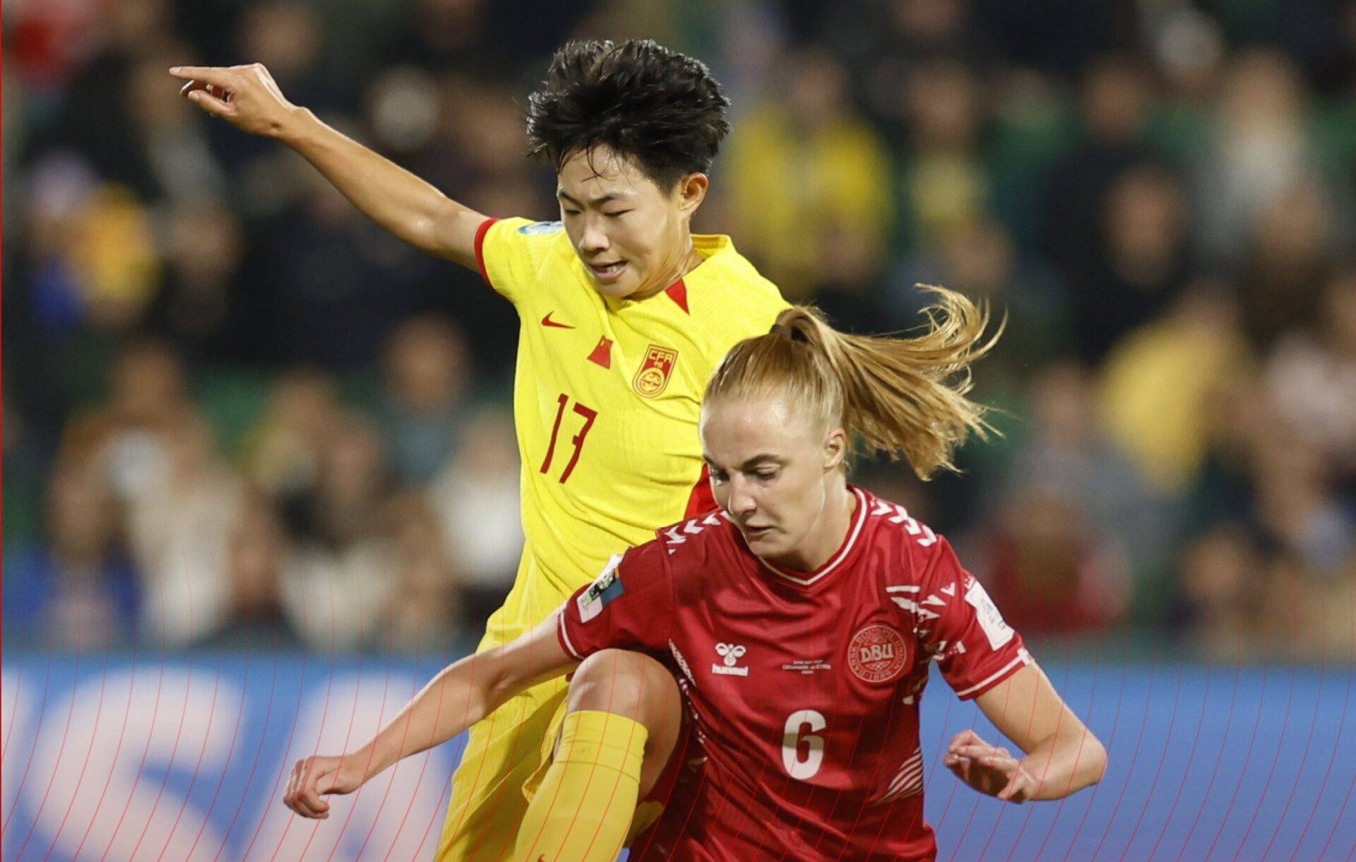
M 856 481 L 1024 634 L 1356 650 L 1356 3 L 15 0 L 4 638 L 445 652 L 521 546 L 517 319 L 176 96 L 282 91 L 452 197 L 555 217 L 521 106 L 568 38 L 702 57 L 696 228 L 842 329 L 941 284 L 1001 436 Z M 464 642 L 464 641 L 461 641 Z

